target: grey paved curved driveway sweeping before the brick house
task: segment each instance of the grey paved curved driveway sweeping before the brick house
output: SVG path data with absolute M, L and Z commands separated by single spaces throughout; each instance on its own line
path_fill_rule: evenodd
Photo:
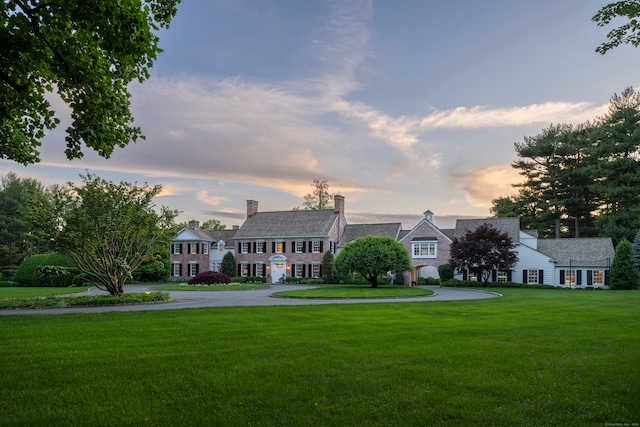
M 153 285 L 128 285 L 125 292 L 148 291 Z M 271 294 L 280 291 L 293 291 L 308 289 L 313 286 L 300 285 L 271 285 L 268 289 L 254 289 L 246 291 L 166 291 L 173 298 L 171 301 L 154 304 L 139 305 L 111 305 L 104 307 L 68 307 L 46 308 L 26 310 L 0 310 L 0 315 L 15 314 L 63 314 L 63 313 L 104 313 L 109 311 L 139 311 L 139 310 L 172 310 L 178 308 L 201 307 L 242 307 L 242 306 L 269 306 L 269 305 L 318 305 L 318 304 L 362 304 L 383 302 L 429 302 L 429 301 L 454 301 L 495 298 L 500 294 L 470 289 L 459 288 L 433 288 L 435 295 L 412 298 L 375 298 L 375 299 L 297 299 L 277 298 Z M 105 293 L 92 288 L 88 294 Z M 87 294 L 77 294 L 87 295 Z

